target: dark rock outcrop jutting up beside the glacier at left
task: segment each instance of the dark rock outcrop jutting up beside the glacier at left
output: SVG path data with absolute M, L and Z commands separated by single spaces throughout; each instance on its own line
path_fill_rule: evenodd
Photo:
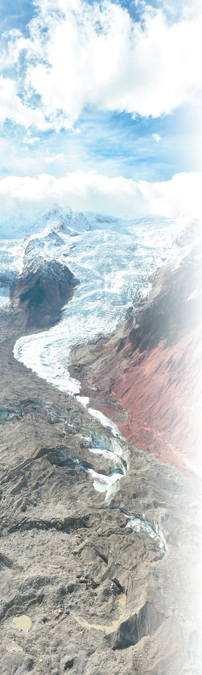
M 49 327 L 78 283 L 68 267 L 43 257 L 30 242 L 22 274 L 11 288 L 11 304 L 26 315 L 27 328 Z

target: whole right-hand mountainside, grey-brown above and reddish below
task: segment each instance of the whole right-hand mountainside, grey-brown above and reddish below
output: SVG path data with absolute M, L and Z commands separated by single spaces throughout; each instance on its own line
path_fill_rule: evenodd
M 195 247 L 155 273 L 148 300 L 113 335 L 75 348 L 70 369 L 90 404 L 128 440 L 200 474 L 201 305 L 201 248 Z

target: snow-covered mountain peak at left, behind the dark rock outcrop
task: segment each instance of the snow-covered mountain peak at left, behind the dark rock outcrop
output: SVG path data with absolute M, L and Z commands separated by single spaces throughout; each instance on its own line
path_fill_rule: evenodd
M 46 211 L 35 207 L 34 213 L 15 211 L 1 214 L 0 220 L 0 306 L 9 302 L 12 284 L 19 275 L 29 275 L 44 265 L 51 270 L 51 261 L 66 267 L 66 257 L 79 236 L 91 230 L 83 213 L 57 205 Z

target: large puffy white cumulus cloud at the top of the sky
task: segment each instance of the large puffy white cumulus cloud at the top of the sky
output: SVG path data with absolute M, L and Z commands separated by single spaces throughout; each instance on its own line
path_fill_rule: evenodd
M 201 16 L 172 24 L 144 3 L 135 22 L 109 0 L 35 5 L 30 36 L 11 35 L 9 58 L 23 49 L 27 101 L 37 94 L 54 128 L 73 126 L 86 106 L 158 117 L 201 88 Z

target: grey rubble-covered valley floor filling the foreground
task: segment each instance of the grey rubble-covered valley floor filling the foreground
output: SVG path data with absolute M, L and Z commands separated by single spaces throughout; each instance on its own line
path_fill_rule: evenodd
M 199 486 L 117 439 L 106 502 L 91 451 L 114 437 L 15 360 L 20 321 L 1 318 L 1 675 L 200 675 Z

